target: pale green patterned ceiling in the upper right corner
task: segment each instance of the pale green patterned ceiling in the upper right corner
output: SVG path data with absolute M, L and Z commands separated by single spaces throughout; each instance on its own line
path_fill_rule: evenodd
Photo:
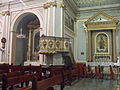
M 120 4 L 120 0 L 72 0 L 78 8 Z

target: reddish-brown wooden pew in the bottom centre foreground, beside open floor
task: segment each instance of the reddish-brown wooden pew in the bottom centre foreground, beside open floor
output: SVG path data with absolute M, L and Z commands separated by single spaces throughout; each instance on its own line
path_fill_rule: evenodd
M 60 85 L 61 90 L 64 88 L 62 75 L 55 75 L 53 77 L 38 81 L 36 77 L 32 80 L 32 90 L 47 90 L 54 85 Z

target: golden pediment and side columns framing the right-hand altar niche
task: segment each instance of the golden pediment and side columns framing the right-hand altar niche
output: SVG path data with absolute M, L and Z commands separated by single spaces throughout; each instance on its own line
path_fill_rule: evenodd
M 113 43 L 112 45 L 113 46 L 113 49 L 114 50 L 112 52 L 112 55 L 113 55 L 113 60 L 111 61 L 115 61 L 115 58 L 116 58 L 116 38 L 115 38 L 115 32 L 117 30 L 117 25 L 119 24 L 119 21 L 110 16 L 110 15 L 107 15 L 106 13 L 104 12 L 98 12 L 97 14 L 93 15 L 91 18 L 89 18 L 85 23 L 84 23 L 84 28 L 85 28 L 85 31 L 86 31 L 86 34 L 87 34 L 87 39 L 86 41 L 88 41 L 86 43 L 86 46 L 87 46 L 87 58 L 88 58 L 88 61 L 93 61 L 94 59 L 92 58 L 92 49 L 91 49 L 91 41 L 92 41 L 92 32 L 94 30 L 101 30 L 101 32 L 107 32 L 105 30 L 112 30 L 112 35 L 113 35 Z M 108 42 L 109 43 L 109 42 Z M 96 47 L 96 46 L 95 46 Z M 109 47 L 108 47 L 109 48 Z M 109 52 L 109 51 L 108 51 Z M 95 53 L 95 52 L 93 52 Z M 101 56 L 102 54 L 104 54 L 103 52 L 101 53 Z M 109 55 L 107 56 L 110 56 L 111 53 L 109 53 Z M 98 55 L 99 56 L 99 55 Z M 110 56 L 111 57 L 111 56 Z M 100 61 L 101 62 L 101 61 Z

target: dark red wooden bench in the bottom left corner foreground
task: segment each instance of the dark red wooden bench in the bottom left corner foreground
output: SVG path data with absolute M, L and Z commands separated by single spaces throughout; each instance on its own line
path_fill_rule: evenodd
M 24 83 L 24 82 L 31 81 L 34 76 L 36 76 L 38 80 L 41 79 L 39 73 L 34 73 L 34 74 L 29 74 L 29 75 L 24 74 L 24 75 L 10 77 L 10 78 L 8 77 L 7 74 L 4 74 L 2 77 L 2 90 L 8 90 L 9 87 L 11 90 L 13 90 L 13 86 Z M 23 89 L 25 89 L 25 87 L 23 87 Z

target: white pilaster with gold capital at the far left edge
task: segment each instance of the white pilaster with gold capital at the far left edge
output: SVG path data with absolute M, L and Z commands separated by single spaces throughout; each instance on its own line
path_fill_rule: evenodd
M 9 33 L 10 33 L 10 12 L 8 10 L 2 11 L 3 15 L 3 28 L 2 28 L 2 37 L 6 38 L 6 43 L 5 43 L 5 49 L 2 51 L 2 57 L 1 57 L 1 62 L 9 62 L 9 44 L 10 44 L 10 38 L 9 38 Z

